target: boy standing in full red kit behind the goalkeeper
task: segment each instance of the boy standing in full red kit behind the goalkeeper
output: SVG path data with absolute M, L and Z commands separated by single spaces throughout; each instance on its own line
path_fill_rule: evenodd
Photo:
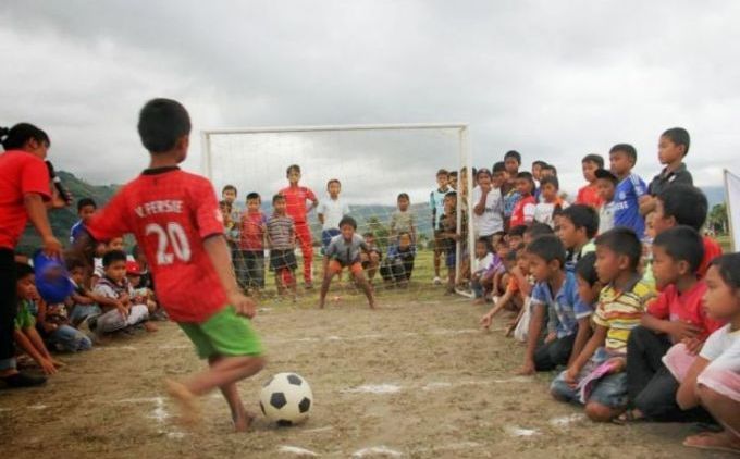
M 311 240 L 311 230 L 308 227 L 307 215 L 319 207 L 319 199 L 317 199 L 310 188 L 298 185 L 298 182 L 300 182 L 300 166 L 298 164 L 289 165 L 286 175 L 289 185 L 281 189 L 280 195 L 285 197 L 287 215 L 293 219 L 296 225 L 296 238 L 300 244 L 300 252 L 304 255 L 304 282 L 306 283 L 306 288 L 312 288 L 311 262 L 313 261 L 313 244 Z M 311 207 L 308 209 L 306 209 L 306 201 L 311 201 Z

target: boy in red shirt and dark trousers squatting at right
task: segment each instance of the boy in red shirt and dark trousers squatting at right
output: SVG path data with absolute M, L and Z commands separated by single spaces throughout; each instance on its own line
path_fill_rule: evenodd
M 698 277 L 703 256 L 702 238 L 689 226 L 666 230 L 653 243 L 653 273 L 661 295 L 648 306 L 641 326 L 627 342 L 627 383 L 633 409 L 620 421 L 693 420 L 676 404 L 678 382 L 663 364 L 668 349 L 683 339 L 701 347 L 723 323 L 706 315 L 706 284 Z M 693 349 L 698 350 L 698 349 Z

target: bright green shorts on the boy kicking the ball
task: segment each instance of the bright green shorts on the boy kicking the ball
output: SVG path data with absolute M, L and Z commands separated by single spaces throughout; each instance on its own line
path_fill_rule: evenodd
M 259 356 L 262 344 L 249 319 L 236 314 L 232 306 L 223 308 L 203 323 L 178 323 L 195 345 L 198 357 Z

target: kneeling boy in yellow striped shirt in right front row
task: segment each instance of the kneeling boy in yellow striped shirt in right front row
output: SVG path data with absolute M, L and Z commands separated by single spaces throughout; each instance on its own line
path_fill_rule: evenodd
M 585 405 L 593 421 L 607 422 L 627 409 L 627 339 L 640 324 L 653 290 L 641 281 L 637 234 L 616 227 L 596 238 L 596 272 L 604 287 L 593 314 L 593 335 L 551 385 L 558 400 Z

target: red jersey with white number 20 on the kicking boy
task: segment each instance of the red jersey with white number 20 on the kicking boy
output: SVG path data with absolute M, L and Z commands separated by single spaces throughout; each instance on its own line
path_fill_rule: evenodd
M 226 293 L 203 247 L 206 238 L 223 236 L 208 179 L 180 168 L 146 170 L 96 212 L 87 228 L 99 240 L 136 236 L 157 299 L 172 320 L 202 323 L 226 306 Z

